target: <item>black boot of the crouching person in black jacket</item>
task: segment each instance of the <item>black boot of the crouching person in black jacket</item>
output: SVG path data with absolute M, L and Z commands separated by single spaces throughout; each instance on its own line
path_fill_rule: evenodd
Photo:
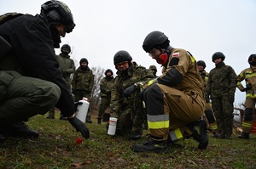
M 8 125 L 0 125 L 0 134 L 3 137 L 38 138 L 39 133 L 30 130 L 24 122 L 15 122 Z

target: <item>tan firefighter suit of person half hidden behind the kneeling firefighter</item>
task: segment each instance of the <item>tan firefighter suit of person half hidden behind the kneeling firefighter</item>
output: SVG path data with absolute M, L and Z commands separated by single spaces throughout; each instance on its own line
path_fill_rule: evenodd
M 203 80 L 203 86 L 204 86 L 203 92 L 205 93 L 209 73 L 206 70 L 201 70 L 200 75 Z M 205 121 L 207 121 L 207 127 L 209 127 L 212 130 L 212 133 L 215 133 L 218 131 L 218 125 L 217 125 L 217 121 L 215 119 L 215 115 L 212 112 L 212 106 L 210 103 L 207 103 L 206 100 L 204 100 L 204 101 L 205 101 L 205 113 L 203 115 L 203 118 L 205 119 Z

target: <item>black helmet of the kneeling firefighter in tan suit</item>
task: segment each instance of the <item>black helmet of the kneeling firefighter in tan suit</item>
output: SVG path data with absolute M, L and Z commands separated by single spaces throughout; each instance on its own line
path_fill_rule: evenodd
M 169 46 L 168 37 L 163 32 L 160 31 L 152 31 L 148 34 L 148 36 L 144 39 L 143 49 L 147 53 L 152 48 L 167 48 Z

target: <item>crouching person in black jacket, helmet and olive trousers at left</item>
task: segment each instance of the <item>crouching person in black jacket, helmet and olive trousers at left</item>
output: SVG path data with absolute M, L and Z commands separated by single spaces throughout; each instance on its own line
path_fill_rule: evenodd
M 9 15 L 11 17 L 12 15 Z M 89 130 L 75 117 L 71 95 L 54 48 L 73 31 L 73 14 L 65 3 L 48 1 L 41 14 L 20 14 L 0 25 L 0 36 L 12 48 L 0 60 L 0 139 L 38 138 L 23 121 L 57 107 L 70 124 L 89 138 Z

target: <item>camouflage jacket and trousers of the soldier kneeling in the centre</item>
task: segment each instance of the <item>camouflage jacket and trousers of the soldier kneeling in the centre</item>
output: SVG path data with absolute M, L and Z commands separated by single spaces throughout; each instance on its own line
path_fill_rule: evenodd
M 127 73 L 117 72 L 111 91 L 110 112 L 118 118 L 116 134 L 127 134 L 132 132 L 143 133 L 143 102 L 139 93 L 133 93 L 131 97 L 124 97 L 125 88 L 135 82 L 146 81 L 154 78 L 152 72 L 136 62 L 128 69 Z

